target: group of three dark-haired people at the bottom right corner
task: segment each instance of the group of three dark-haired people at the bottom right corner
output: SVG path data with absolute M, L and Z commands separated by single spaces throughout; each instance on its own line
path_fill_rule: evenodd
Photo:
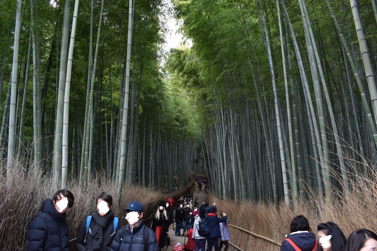
M 317 240 L 308 219 L 298 215 L 291 221 L 290 231 L 280 251 L 377 251 L 377 235 L 367 229 L 352 232 L 347 240 L 339 226 L 328 221 L 318 224 Z

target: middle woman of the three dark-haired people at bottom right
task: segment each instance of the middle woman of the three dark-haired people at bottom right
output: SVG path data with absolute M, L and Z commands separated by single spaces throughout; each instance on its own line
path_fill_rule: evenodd
M 319 223 L 317 230 L 319 237 L 318 251 L 344 251 L 347 239 L 337 224 L 332 221 Z

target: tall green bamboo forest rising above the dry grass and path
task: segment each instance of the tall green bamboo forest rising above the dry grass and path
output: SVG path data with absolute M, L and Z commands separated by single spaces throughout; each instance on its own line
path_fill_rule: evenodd
M 376 0 L 1 0 L 1 175 L 327 198 L 377 177 L 376 49 Z

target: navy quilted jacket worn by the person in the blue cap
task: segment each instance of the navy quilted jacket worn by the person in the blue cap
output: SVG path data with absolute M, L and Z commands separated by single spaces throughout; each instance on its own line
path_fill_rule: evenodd
M 119 229 L 116 233 L 113 243 L 111 244 L 111 251 L 144 251 L 144 224 L 143 219 L 139 224 L 133 228 L 131 232 L 130 224 Z M 157 238 L 154 232 L 148 228 L 148 251 L 159 251 Z

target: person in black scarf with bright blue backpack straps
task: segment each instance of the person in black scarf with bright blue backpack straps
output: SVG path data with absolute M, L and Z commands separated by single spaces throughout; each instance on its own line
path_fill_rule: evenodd
M 97 210 L 82 222 L 79 234 L 75 240 L 77 251 L 109 251 L 116 234 L 117 226 L 114 226 L 115 215 L 111 211 L 113 197 L 102 192 L 97 197 Z M 117 220 L 117 218 L 116 218 Z

